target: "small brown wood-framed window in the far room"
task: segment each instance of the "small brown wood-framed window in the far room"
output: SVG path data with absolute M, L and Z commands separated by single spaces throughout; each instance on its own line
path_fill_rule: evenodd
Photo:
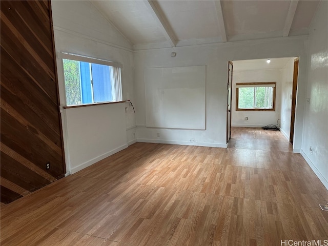
M 275 111 L 276 82 L 237 83 L 236 110 Z

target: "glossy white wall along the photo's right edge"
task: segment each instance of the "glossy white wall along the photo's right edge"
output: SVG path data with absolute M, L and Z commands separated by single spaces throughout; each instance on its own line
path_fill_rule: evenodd
M 308 88 L 301 154 L 328 189 L 328 2 L 321 1 L 309 36 Z M 313 151 L 310 151 L 310 147 Z

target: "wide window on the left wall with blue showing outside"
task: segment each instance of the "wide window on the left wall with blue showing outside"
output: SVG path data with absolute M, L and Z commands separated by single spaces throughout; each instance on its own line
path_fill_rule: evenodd
M 77 55 L 61 55 L 67 106 L 122 100 L 119 64 Z

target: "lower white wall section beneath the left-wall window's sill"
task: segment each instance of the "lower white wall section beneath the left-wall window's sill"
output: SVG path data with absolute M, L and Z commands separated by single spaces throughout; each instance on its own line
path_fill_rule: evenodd
M 67 109 L 65 116 L 71 173 L 128 147 L 125 103 Z

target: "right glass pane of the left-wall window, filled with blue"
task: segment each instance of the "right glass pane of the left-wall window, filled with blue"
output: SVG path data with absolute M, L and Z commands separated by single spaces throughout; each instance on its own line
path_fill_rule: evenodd
M 110 67 L 92 63 L 91 69 L 94 102 L 112 101 Z

